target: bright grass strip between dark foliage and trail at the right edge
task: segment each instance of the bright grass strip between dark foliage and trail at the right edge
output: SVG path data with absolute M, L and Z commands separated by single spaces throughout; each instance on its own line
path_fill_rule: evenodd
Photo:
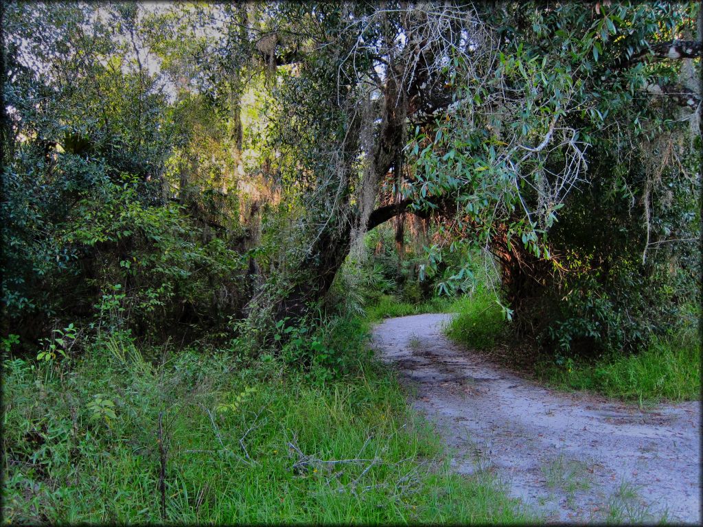
M 598 360 L 542 361 L 538 376 L 562 389 L 591 390 L 640 403 L 696 401 L 701 394 L 701 348 L 694 331 L 654 339 L 636 355 Z

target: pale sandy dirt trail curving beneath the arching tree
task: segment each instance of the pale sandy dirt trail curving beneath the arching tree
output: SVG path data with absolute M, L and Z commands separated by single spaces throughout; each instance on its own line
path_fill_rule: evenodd
M 545 389 L 452 344 L 449 318 L 390 318 L 374 345 L 415 387 L 457 471 L 494 472 L 546 521 L 699 523 L 700 403 L 640 410 Z

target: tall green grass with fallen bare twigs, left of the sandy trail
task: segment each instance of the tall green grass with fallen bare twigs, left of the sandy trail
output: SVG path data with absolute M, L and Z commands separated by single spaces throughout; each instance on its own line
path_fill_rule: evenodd
M 5 521 L 530 521 L 488 476 L 451 474 L 441 439 L 359 349 L 364 324 L 339 327 L 356 365 L 323 384 L 270 355 L 116 338 L 73 363 L 6 360 Z

